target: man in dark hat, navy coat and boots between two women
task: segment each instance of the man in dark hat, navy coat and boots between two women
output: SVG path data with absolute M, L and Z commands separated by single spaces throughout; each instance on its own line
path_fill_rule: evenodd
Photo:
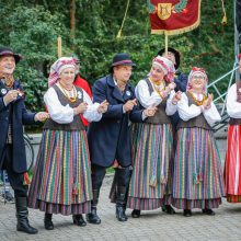
M 128 83 L 133 67 L 129 55 L 117 54 L 113 58 L 111 74 L 95 81 L 93 85 L 93 102 L 106 100 L 110 105 L 97 123 L 91 123 L 88 131 L 90 158 L 92 164 L 93 200 L 91 214 L 87 220 L 101 223 L 96 214 L 100 188 L 105 176 L 105 170 L 117 162 L 115 177 L 116 218 L 126 221 L 126 195 L 130 180 L 130 120 L 142 122 L 152 116 L 156 107 L 138 110 L 134 88 Z

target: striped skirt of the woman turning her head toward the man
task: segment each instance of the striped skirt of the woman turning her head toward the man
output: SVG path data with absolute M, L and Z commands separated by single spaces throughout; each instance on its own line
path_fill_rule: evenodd
M 134 134 L 135 152 L 127 207 L 157 209 L 171 200 L 172 126 L 134 124 Z

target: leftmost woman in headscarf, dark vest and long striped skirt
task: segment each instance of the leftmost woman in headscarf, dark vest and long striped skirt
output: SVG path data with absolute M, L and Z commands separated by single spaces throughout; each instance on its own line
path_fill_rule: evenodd
M 44 95 L 50 118 L 44 125 L 28 207 L 45 211 L 47 230 L 54 229 L 53 214 L 72 215 L 74 225 L 85 226 L 82 214 L 91 209 L 89 148 L 79 114 L 97 122 L 108 104 L 92 104 L 89 95 L 73 85 L 76 70 L 76 59 L 59 58 L 51 66 Z

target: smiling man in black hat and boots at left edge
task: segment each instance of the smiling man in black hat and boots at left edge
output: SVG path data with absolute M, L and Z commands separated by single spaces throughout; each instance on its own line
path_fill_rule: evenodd
M 0 47 L 0 170 L 7 170 L 14 190 L 18 225 L 16 230 L 30 234 L 37 229 L 27 219 L 27 185 L 24 185 L 26 173 L 26 154 L 23 139 L 23 125 L 43 122 L 48 117 L 45 112 L 30 113 L 24 105 L 24 92 L 13 72 L 22 59 L 9 47 Z

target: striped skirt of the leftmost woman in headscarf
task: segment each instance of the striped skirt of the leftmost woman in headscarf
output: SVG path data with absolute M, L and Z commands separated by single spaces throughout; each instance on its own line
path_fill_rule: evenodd
M 44 130 L 28 192 L 28 207 L 48 214 L 91 210 L 92 186 L 85 131 Z

